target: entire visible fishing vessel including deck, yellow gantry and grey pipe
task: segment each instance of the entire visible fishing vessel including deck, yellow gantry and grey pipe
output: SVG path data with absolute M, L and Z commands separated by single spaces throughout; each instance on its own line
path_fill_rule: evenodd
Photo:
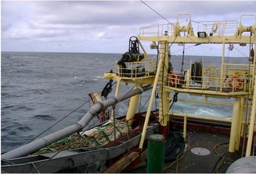
M 181 16 L 188 16 L 187 25 L 180 25 L 179 17 Z M 241 22 L 244 16 L 253 17 L 253 24 L 244 26 Z M 59 172 L 61 169 L 78 169 L 81 166 L 86 166 L 86 170 L 83 168 L 80 171 L 152 172 L 157 168 L 156 172 L 160 173 L 163 171 L 217 173 L 225 172 L 234 160 L 244 155 L 246 157 L 254 155 L 253 141 L 256 141 L 254 138 L 256 133 L 256 54 L 254 51 L 256 50 L 256 16 L 242 15 L 240 22 L 198 21 L 197 31 L 193 29 L 191 22 L 190 14 L 180 14 L 177 16 L 175 24 L 169 22 L 140 29 L 138 37 L 131 36 L 129 39 L 128 52 L 114 63 L 114 71 L 110 70 L 104 74 L 105 79 L 109 79 L 109 83 L 104 87 L 102 93 L 107 99 L 114 80 L 117 83 L 115 97 L 96 103 L 74 125 L 25 144 L 20 149 L 17 148 L 3 154 L 2 157 L 6 159 L 2 160 L 2 169 L 7 172 L 15 172 L 17 169 L 20 172 Z M 152 44 L 149 47 L 157 51 L 157 57 L 149 58 L 140 41 L 151 41 Z M 206 65 L 204 60 L 196 62 L 190 60 L 189 68 L 184 69 L 184 45 L 190 43 L 195 46 L 222 44 L 220 66 Z M 232 51 L 234 45 L 240 47 L 245 43 L 249 44 L 249 54 L 246 56 L 248 61 L 246 63 L 229 63 L 226 56 L 227 45 L 228 51 Z M 174 71 L 172 67 L 171 46 L 173 44 L 183 45 L 182 63 L 175 65 L 181 67 L 180 71 Z M 131 83 L 133 88 L 128 93 L 119 95 L 122 82 Z M 139 113 L 136 114 L 141 94 L 149 89 L 152 89 L 151 95 L 144 104 L 145 106 L 148 102 L 147 111 L 142 113 L 140 112 L 142 108 L 139 108 Z M 200 100 L 180 98 L 178 97 L 179 93 L 199 95 L 204 98 L 201 97 Z M 122 121 L 127 124 L 128 132 L 126 135 L 121 134 L 122 139 L 117 139 L 118 130 L 115 122 L 118 119 L 116 120 L 114 111 L 116 105 L 127 98 L 130 99 L 127 115 L 123 116 Z M 210 100 L 210 98 L 218 100 Z M 227 103 L 222 100 L 223 98 L 231 100 Z M 154 100 L 156 110 L 152 111 Z M 171 109 L 176 102 L 231 106 L 232 117 L 219 118 L 188 114 L 183 111 L 178 113 Z M 41 148 L 77 132 L 79 137 L 95 139 L 95 136 L 91 134 L 91 136 L 83 137 L 84 133 L 79 133 L 79 131 L 82 131 L 94 116 L 110 106 L 112 113 L 109 119 L 113 132 L 108 133 L 114 141 L 109 140 L 108 135 L 106 136 L 107 131 L 104 132 L 99 127 L 98 129 L 93 127 L 93 129 L 95 128 L 92 129 L 95 133 L 93 135 L 100 135 L 101 140 L 108 140 L 103 147 L 93 147 L 96 148 L 95 150 L 81 145 L 81 148 L 66 150 L 69 144 L 64 144 L 65 148 L 58 152 L 32 154 L 30 157 L 24 157 L 35 151 L 40 152 Z M 129 127 L 132 129 L 130 130 Z M 161 151 L 157 149 L 157 153 L 155 153 L 155 155 L 162 155 L 158 161 L 164 159 L 168 161 L 164 165 L 164 170 L 161 168 L 162 164 L 155 167 L 148 164 L 148 161 L 155 159 L 151 155 L 153 153 L 147 152 L 150 150 L 148 144 L 151 142 L 148 139 L 149 135 L 155 134 L 156 131 L 161 137 L 158 139 L 159 142 L 162 143 L 162 146 L 166 146 L 165 151 L 164 148 L 160 148 Z M 129 138 L 130 134 L 132 134 L 131 139 Z M 22 152 L 20 152 L 21 150 Z M 109 153 L 109 151 L 111 152 Z M 203 153 L 205 155 L 202 155 Z M 126 158 L 129 162 L 126 161 Z M 145 170 L 145 159 L 148 164 L 147 170 Z M 143 166 L 141 170 L 136 169 L 139 166 Z

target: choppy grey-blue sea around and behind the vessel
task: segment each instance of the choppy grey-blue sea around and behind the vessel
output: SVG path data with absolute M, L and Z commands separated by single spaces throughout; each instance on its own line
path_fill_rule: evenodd
M 116 53 L 2 52 L 2 153 L 32 140 L 89 100 L 89 93 L 101 91 L 108 82 L 103 78 L 103 72 L 114 70 L 114 61 L 118 61 L 121 55 Z M 213 64 L 216 67 L 220 66 L 221 60 L 220 57 L 186 56 L 184 70 L 188 69 L 190 59 L 192 62 L 204 59 L 204 65 Z M 172 56 L 172 65 L 174 70 L 180 70 L 181 56 Z M 131 88 L 131 85 L 122 83 L 120 94 L 126 93 Z M 115 89 L 116 85 L 109 97 L 114 96 Z M 151 91 L 147 91 L 142 95 L 141 106 L 150 94 Z M 203 98 L 185 94 L 179 94 L 178 97 Z M 213 100 L 231 103 L 233 98 Z M 84 105 L 43 135 L 76 123 L 88 111 L 90 105 Z M 126 114 L 127 106 L 127 101 L 119 103 L 116 115 Z M 146 109 L 147 105 L 143 111 Z M 155 104 L 153 109 L 155 109 Z M 223 118 L 232 116 L 232 107 L 228 106 L 178 102 L 174 104 L 172 110 Z

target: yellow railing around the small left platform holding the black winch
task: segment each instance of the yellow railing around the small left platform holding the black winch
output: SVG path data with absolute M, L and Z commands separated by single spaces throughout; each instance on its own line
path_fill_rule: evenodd
M 119 77 L 140 78 L 154 76 L 156 71 L 156 59 L 147 59 L 147 61 L 125 62 L 118 65 L 115 62 L 115 73 Z

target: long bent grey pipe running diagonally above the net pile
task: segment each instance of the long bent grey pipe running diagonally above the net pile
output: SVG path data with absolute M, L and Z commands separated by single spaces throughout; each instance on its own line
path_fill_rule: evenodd
M 105 100 L 104 102 L 97 103 L 93 105 L 89 111 L 82 117 L 80 121 L 77 123 L 65 127 L 64 129 L 61 129 L 57 132 L 54 132 L 50 135 L 44 136 L 43 138 L 40 138 L 38 140 L 32 141 L 31 143 L 25 144 L 20 146 L 19 148 L 16 148 L 14 150 L 11 150 L 9 152 L 6 152 L 2 154 L 2 159 L 13 159 L 18 157 L 24 157 L 25 155 L 31 154 L 41 148 L 43 148 L 46 145 L 49 145 L 53 142 L 56 142 L 65 136 L 69 136 L 75 132 L 80 132 L 82 129 L 90 123 L 92 118 L 97 115 L 99 112 L 103 111 L 104 108 L 112 106 L 118 102 L 121 102 L 122 100 L 125 100 L 127 98 L 130 98 L 132 96 L 135 96 L 137 94 L 142 94 L 144 91 L 149 90 L 152 88 L 152 85 L 146 85 L 143 87 L 138 87 L 137 89 L 129 91 L 129 93 L 119 95 L 117 97 L 110 98 L 108 100 Z

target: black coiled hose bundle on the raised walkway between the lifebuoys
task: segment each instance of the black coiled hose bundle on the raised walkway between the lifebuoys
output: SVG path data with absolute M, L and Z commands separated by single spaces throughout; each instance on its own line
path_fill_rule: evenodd
M 194 83 L 202 84 L 202 60 L 191 64 L 191 80 Z

